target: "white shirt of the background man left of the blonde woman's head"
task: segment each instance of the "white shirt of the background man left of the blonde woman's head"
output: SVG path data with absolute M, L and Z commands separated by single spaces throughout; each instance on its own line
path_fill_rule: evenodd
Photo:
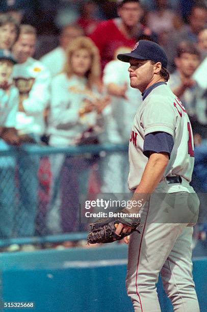
M 58 46 L 45 54 L 40 59 L 40 62 L 49 70 L 51 77 L 54 77 L 63 70 L 63 66 L 66 62 L 65 51 L 61 46 Z

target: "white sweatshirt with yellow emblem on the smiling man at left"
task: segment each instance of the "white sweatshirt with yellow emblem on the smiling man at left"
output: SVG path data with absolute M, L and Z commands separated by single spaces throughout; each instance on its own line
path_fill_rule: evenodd
M 23 100 L 25 112 L 17 113 L 16 128 L 19 134 L 44 133 L 43 112 L 47 107 L 50 93 L 50 74 L 45 66 L 33 59 L 16 64 L 12 73 L 19 94 L 27 98 Z

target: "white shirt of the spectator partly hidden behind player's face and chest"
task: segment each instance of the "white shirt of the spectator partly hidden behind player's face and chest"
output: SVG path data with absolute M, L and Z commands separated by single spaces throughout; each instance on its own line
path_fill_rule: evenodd
M 113 116 L 116 120 L 122 142 L 128 142 L 133 119 L 138 107 L 142 103 L 141 92 L 130 86 L 128 67 L 128 63 L 118 60 L 111 61 L 105 66 L 103 76 L 106 86 L 110 83 L 115 83 L 119 86 L 127 84 L 126 96 L 128 99 L 112 96 Z

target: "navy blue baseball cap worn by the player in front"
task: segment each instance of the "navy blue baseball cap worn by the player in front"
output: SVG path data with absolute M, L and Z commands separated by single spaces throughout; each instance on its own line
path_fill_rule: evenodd
M 164 68 L 167 68 L 167 56 L 163 48 L 149 40 L 139 40 L 135 47 L 132 49 L 131 53 L 118 54 L 118 60 L 122 62 L 130 62 L 130 59 L 138 60 L 151 60 L 154 62 L 161 62 Z

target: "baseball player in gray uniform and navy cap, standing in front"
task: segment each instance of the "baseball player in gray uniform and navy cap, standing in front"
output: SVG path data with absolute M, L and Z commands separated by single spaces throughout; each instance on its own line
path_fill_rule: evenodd
M 143 98 L 131 131 L 128 176 L 132 199 L 143 200 L 143 205 L 141 210 L 125 209 L 139 211 L 143 224 L 140 234 L 130 236 L 127 294 L 135 311 L 161 311 L 156 291 L 161 272 L 174 311 L 198 312 L 191 242 L 199 200 L 189 186 L 194 166 L 191 124 L 167 86 L 167 57 L 158 44 L 140 40 L 131 53 L 117 57 L 130 63 L 131 87 Z M 116 235 L 130 230 L 119 223 Z

